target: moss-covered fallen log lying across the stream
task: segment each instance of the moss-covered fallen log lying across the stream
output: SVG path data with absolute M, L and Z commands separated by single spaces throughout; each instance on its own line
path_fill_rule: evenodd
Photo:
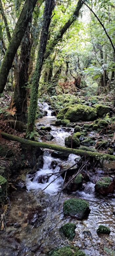
M 37 141 L 27 140 L 27 139 L 20 138 L 18 136 L 14 136 L 14 135 L 7 134 L 7 133 L 4 133 L 4 132 L 1 132 L 1 136 L 4 139 L 17 141 L 17 142 L 26 144 L 26 145 L 31 146 L 31 147 L 52 149 L 52 150 L 67 152 L 67 153 L 70 153 L 70 154 L 75 154 L 75 155 L 80 155 L 80 156 L 90 156 L 90 157 L 95 157 L 96 159 L 106 159 L 106 160 L 114 160 L 115 161 L 115 156 L 111 156 L 111 155 L 108 155 L 108 154 L 84 151 L 84 150 L 80 150 L 80 149 L 65 148 L 65 147 L 62 147 L 62 146 L 54 145 L 54 144 L 49 144 L 49 143 L 47 144 L 45 142 L 37 142 Z

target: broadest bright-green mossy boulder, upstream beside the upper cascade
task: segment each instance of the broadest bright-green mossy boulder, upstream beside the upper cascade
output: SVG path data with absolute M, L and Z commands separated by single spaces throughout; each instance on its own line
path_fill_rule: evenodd
M 59 111 L 58 119 L 68 119 L 71 122 L 82 121 L 93 121 L 97 117 L 96 110 L 92 107 L 76 104 L 70 105 L 69 107 L 63 108 Z

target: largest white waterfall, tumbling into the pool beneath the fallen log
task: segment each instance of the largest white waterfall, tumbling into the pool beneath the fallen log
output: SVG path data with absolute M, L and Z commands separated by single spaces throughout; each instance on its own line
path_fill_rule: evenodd
M 47 185 L 54 181 L 44 191 L 51 195 L 56 194 L 61 183 L 63 182 L 62 177 L 59 177 L 59 174 L 57 174 L 57 172 L 60 170 L 60 166 L 57 165 L 55 169 L 52 169 L 51 163 L 54 158 L 51 157 L 51 153 L 48 150 L 44 152 L 43 160 L 44 164 L 42 169 L 37 171 L 33 176 L 27 175 L 27 189 L 28 191 L 31 189 L 43 190 Z M 53 175 L 51 176 L 51 174 Z

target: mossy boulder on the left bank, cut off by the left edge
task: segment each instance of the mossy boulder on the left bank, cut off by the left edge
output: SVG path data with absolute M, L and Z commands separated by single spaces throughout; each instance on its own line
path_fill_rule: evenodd
M 5 200 L 7 196 L 7 180 L 0 175 L 0 203 Z

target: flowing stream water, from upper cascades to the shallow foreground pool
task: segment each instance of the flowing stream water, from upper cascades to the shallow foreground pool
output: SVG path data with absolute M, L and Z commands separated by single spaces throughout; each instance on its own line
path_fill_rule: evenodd
M 64 145 L 64 138 L 72 130 L 66 131 L 66 128 L 54 127 L 56 117 L 52 116 L 52 110 L 49 110 L 47 103 L 42 104 L 41 107 L 47 110 L 47 116 L 39 119 L 38 123 L 50 125 L 54 143 Z M 109 226 L 111 230 L 109 240 L 115 239 L 114 198 L 100 197 L 95 194 L 95 179 L 92 174 L 90 182 L 84 184 L 84 189 L 77 190 L 69 196 L 62 193 L 59 201 L 56 196 L 63 183 L 63 178 L 59 177 L 57 172 L 62 165 L 66 168 L 74 164 L 76 158 L 79 159 L 80 156 L 71 154 L 66 160 L 54 158 L 52 151 L 44 150 L 43 167 L 26 176 L 27 189 L 20 188 L 9 195 L 11 210 L 7 217 L 7 226 L 1 233 L 0 255 L 45 256 L 51 249 L 69 243 L 59 231 L 59 228 L 68 221 L 76 224 L 74 245 L 82 248 L 86 255 L 105 255 L 103 250 L 99 249 L 102 237 L 97 235 L 96 230 L 100 224 Z M 51 183 L 53 180 L 55 181 Z M 91 212 L 88 218 L 82 221 L 63 215 L 64 200 L 75 196 L 90 200 Z M 85 237 L 84 231 L 90 231 L 91 237 Z M 106 238 L 103 242 L 106 245 Z

